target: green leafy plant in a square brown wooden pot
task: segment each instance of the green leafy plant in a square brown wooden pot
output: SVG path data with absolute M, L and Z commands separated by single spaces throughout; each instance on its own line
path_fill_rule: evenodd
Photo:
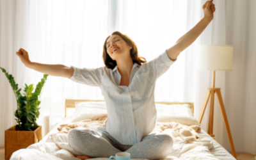
M 1 67 L 0 67 L 1 68 Z M 47 79 L 47 74 L 36 85 L 33 92 L 33 84 L 29 86 L 25 83 L 23 95 L 20 93 L 21 88 L 15 83 L 12 74 L 8 74 L 4 68 L 1 68 L 12 86 L 12 90 L 17 100 L 17 109 L 14 115 L 17 117 L 17 125 L 13 125 L 4 132 L 4 155 L 5 159 L 10 159 L 12 153 L 21 148 L 27 148 L 33 143 L 42 140 L 42 126 L 36 124 L 38 118 L 40 94 Z

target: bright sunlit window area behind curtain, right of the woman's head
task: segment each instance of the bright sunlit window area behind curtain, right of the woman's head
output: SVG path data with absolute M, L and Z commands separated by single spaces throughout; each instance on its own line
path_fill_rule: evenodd
M 151 61 L 187 32 L 188 1 L 118 1 L 116 30 L 130 36 Z M 155 100 L 184 102 L 185 54 L 156 81 Z

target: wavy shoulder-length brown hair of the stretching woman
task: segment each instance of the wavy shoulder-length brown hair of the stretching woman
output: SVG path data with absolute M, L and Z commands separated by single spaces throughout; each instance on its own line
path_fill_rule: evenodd
M 130 49 L 130 55 L 131 55 L 133 63 L 138 63 L 138 65 L 141 66 L 141 63 L 147 62 L 147 60 L 145 58 L 141 57 L 138 54 L 137 46 L 129 36 L 120 33 L 120 31 L 115 31 L 111 35 L 120 36 L 127 43 L 127 45 L 132 46 L 132 49 Z M 108 55 L 107 47 L 106 47 L 106 43 L 107 43 L 107 40 L 109 37 L 110 36 L 108 36 L 104 42 L 102 58 L 106 65 L 105 67 L 113 69 L 116 67 L 116 61 L 112 60 L 112 58 Z

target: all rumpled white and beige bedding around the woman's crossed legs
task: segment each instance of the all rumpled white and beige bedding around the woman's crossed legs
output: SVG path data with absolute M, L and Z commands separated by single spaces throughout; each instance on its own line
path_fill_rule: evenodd
M 21 149 L 14 152 L 12 160 L 30 160 L 35 159 L 35 156 L 36 159 L 75 160 L 77 159 L 76 157 L 80 156 L 81 154 L 70 147 L 68 144 L 67 133 L 70 131 L 70 129 L 76 127 L 92 127 L 97 129 L 97 127 L 106 124 L 108 120 L 107 116 L 108 115 L 97 115 L 92 119 L 81 120 L 80 122 L 73 123 L 72 121 L 67 121 L 67 124 L 58 125 L 58 132 L 54 132 L 49 135 L 49 138 L 51 138 L 54 143 L 49 143 L 46 141 L 30 145 L 26 149 Z M 213 148 L 212 138 L 205 137 L 200 131 L 201 128 L 197 125 L 187 126 L 177 122 L 156 122 L 156 126 L 152 132 L 165 132 L 173 138 L 172 151 L 163 160 L 220 160 L 210 152 L 210 150 Z M 202 138 L 200 138 L 198 134 Z M 108 160 L 108 157 L 99 157 L 95 159 Z

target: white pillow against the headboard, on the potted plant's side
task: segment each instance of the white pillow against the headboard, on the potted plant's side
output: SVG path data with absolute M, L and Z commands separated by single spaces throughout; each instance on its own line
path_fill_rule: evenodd
M 72 123 L 81 120 L 92 119 L 99 114 L 107 114 L 106 102 L 75 102 L 76 111 L 73 114 Z

